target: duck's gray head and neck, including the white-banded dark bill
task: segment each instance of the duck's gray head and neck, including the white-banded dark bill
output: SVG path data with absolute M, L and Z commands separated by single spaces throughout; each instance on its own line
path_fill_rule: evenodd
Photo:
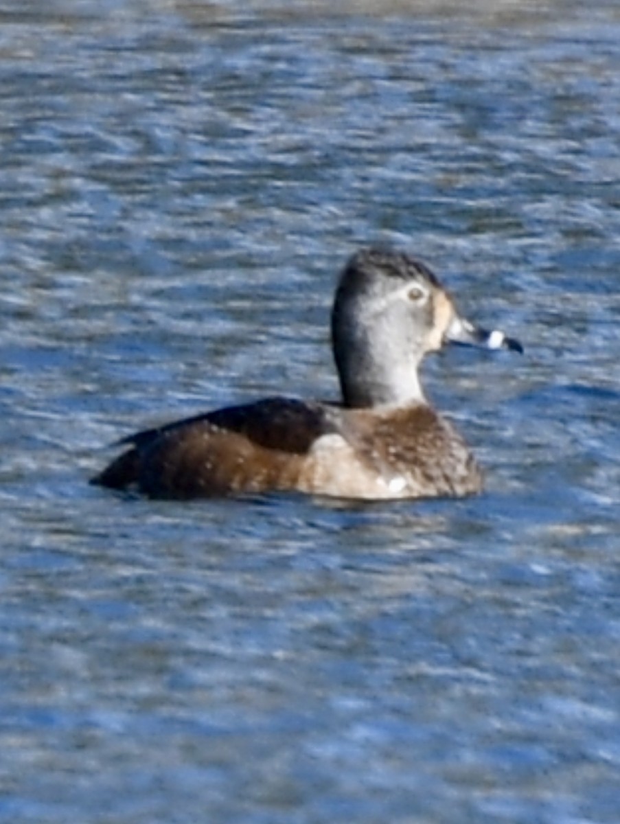
M 350 259 L 336 291 L 331 331 L 351 405 L 423 399 L 420 361 L 451 341 L 521 350 L 503 333 L 479 330 L 461 318 L 428 267 L 391 250 L 365 249 Z

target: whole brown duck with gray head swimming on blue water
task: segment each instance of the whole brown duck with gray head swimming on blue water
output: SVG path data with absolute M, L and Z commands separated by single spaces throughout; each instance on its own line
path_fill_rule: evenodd
M 477 494 L 481 468 L 420 382 L 449 344 L 522 353 L 461 316 L 427 265 L 369 246 L 346 262 L 331 311 L 341 399 L 270 396 L 148 428 L 91 483 L 152 499 L 301 493 L 390 500 Z

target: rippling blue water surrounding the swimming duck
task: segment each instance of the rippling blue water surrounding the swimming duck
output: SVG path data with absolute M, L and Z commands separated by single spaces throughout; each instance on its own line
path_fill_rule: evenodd
M 620 13 L 0 5 L 0 820 L 616 822 Z M 141 426 L 335 396 L 360 243 L 482 325 L 460 502 L 128 501 Z

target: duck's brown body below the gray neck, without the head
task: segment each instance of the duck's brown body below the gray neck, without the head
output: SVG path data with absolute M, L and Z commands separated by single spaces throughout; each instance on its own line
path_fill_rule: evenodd
M 176 499 L 294 490 L 397 499 L 481 489 L 463 439 L 424 404 L 355 410 L 272 398 L 133 442 L 94 483 Z

